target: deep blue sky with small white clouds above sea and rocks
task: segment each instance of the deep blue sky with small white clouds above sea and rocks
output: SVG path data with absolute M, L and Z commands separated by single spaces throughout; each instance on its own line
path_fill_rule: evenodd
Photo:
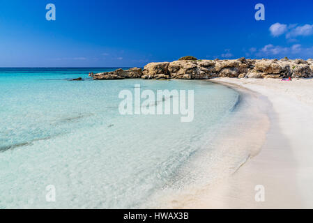
M 47 3 L 56 21 L 47 21 Z M 265 21 L 254 6 L 263 3 Z M 0 0 L 0 67 L 313 57 L 313 1 Z

